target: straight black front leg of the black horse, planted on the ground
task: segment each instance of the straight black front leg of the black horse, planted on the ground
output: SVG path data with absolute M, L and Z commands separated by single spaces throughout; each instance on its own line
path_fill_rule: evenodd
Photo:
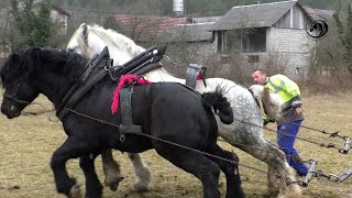
M 86 197 L 101 197 L 102 186 L 98 179 L 95 161 L 88 155 L 79 157 L 79 166 L 85 173 L 86 177 Z

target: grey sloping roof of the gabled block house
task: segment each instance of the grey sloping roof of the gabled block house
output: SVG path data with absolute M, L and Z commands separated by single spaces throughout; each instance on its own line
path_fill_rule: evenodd
M 272 26 L 295 4 L 302 8 L 297 0 L 233 7 L 212 25 L 211 30 Z

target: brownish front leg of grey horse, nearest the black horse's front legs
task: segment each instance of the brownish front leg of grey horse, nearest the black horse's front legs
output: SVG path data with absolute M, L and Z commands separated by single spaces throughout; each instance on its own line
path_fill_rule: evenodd
M 105 150 L 101 153 L 103 174 L 106 175 L 105 184 L 116 191 L 120 182 L 123 179 L 121 176 L 120 165 L 112 157 L 111 150 Z

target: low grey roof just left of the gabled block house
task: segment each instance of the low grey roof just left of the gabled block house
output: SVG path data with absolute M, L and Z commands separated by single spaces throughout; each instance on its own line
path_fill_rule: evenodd
M 168 42 L 209 41 L 212 38 L 212 33 L 209 29 L 213 23 L 177 24 L 164 35 L 164 40 Z

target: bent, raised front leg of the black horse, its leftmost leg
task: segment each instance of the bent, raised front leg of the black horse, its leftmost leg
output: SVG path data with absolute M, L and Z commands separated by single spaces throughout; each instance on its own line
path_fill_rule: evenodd
M 76 179 L 67 175 L 66 170 L 66 162 L 70 158 L 78 157 L 74 155 L 76 152 L 73 152 L 72 145 L 75 145 L 74 142 L 67 139 L 65 143 L 53 153 L 51 167 L 54 173 L 57 193 L 65 194 L 67 197 L 80 198 L 79 185 Z

